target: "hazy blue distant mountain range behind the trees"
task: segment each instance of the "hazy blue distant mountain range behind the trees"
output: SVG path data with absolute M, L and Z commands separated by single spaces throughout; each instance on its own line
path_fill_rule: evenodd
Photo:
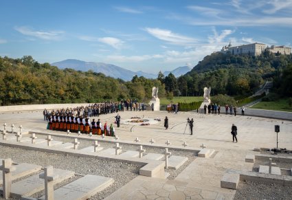
M 118 67 L 116 65 L 111 65 L 107 63 L 95 63 L 95 62 L 85 62 L 82 60 L 76 60 L 76 59 L 67 59 L 60 62 L 52 63 L 52 65 L 60 68 L 60 69 L 75 69 L 77 71 L 89 71 L 92 70 L 97 73 L 102 73 L 106 76 L 111 76 L 113 78 L 121 78 L 122 80 L 132 80 L 133 76 L 144 76 L 145 78 L 157 78 L 157 74 L 150 74 L 146 73 L 144 71 L 131 71 L 128 69 L 124 69 L 122 67 Z M 176 69 L 172 71 L 164 71 L 164 76 L 167 76 L 170 74 L 175 75 L 175 77 L 181 76 L 183 74 L 186 74 L 188 71 L 190 71 L 191 68 L 188 66 L 184 67 L 177 67 Z

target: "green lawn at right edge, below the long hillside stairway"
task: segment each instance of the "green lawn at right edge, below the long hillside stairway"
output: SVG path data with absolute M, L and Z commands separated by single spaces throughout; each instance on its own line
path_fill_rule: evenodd
M 283 98 L 274 102 L 259 102 L 258 104 L 252 106 L 251 109 L 292 112 L 292 107 L 289 107 L 288 104 L 288 98 Z

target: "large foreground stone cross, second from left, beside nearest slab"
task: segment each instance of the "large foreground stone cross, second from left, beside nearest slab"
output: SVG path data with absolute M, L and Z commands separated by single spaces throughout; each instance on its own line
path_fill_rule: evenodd
M 58 175 L 53 175 L 53 166 L 45 167 L 44 171 L 39 177 L 45 179 L 45 200 L 54 200 L 54 180 L 58 179 Z

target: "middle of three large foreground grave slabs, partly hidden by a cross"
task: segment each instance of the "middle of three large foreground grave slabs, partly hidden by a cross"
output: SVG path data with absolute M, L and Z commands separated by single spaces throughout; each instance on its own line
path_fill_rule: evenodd
M 54 179 L 54 184 L 58 184 L 65 179 L 69 179 L 74 176 L 74 172 L 68 170 L 60 170 L 54 168 L 54 175 L 58 175 L 57 179 Z M 27 179 L 18 181 L 11 186 L 12 198 L 19 199 L 25 196 L 34 195 L 34 193 L 45 189 L 45 180 L 40 179 L 39 175 L 33 175 Z

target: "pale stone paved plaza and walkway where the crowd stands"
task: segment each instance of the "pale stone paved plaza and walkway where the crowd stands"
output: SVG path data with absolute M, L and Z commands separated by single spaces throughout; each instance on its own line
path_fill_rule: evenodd
M 248 109 L 246 111 L 248 113 Z M 116 113 L 100 115 L 102 124 L 115 121 Z M 276 147 L 274 125 L 280 125 L 278 133 L 279 148 L 292 149 L 292 122 L 271 118 L 251 117 L 248 115 L 201 115 L 196 112 L 168 113 L 167 111 L 124 111 L 121 120 L 131 117 L 160 118 L 158 124 L 148 126 L 115 126 L 115 134 L 121 141 L 140 142 L 154 139 L 155 144 L 165 145 L 169 140 L 172 146 L 207 148 L 216 152 L 210 158 L 197 157 L 175 179 L 158 179 L 138 176 L 128 184 L 113 192 L 107 199 L 233 199 L 236 190 L 221 188 L 221 178 L 227 169 L 251 171 L 252 163 L 245 162 L 245 156 L 256 154 L 254 148 Z M 169 128 L 164 128 L 164 118 L 168 117 Z M 187 118 L 194 118 L 194 131 L 190 135 Z M 93 118 L 91 118 L 93 119 Z M 95 118 L 96 120 L 98 117 Z M 0 126 L 3 123 L 15 127 L 20 124 L 24 131 L 44 131 L 67 135 L 60 131 L 47 131 L 47 122 L 43 120 L 43 111 L 14 111 L 0 114 Z M 238 143 L 232 142 L 231 126 L 238 128 Z M 3 129 L 3 127 L 1 127 Z M 185 131 L 186 129 L 186 131 Z M 76 134 L 76 133 L 71 133 Z M 77 134 L 76 134 L 77 135 Z M 93 135 L 100 139 L 100 136 Z

